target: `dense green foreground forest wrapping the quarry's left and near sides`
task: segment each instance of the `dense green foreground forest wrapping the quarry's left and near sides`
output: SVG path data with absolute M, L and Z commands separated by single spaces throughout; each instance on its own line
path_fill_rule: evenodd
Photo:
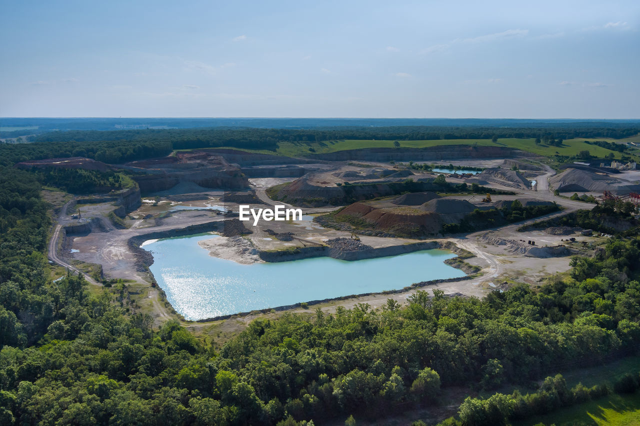
M 0 170 L 2 424 L 376 418 L 435 406 L 445 386 L 529 383 L 640 342 L 640 239 L 613 238 L 539 289 L 287 313 L 214 351 L 178 322 L 154 331 L 118 286 L 95 295 L 74 276 L 52 283 L 38 190 L 33 174 Z

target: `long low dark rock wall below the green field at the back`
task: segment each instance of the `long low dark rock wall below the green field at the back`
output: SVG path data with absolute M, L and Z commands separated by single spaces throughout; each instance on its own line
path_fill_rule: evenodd
M 429 148 L 367 148 L 345 150 L 312 157 L 327 161 L 442 161 L 456 159 L 504 159 L 531 157 L 524 151 L 506 146 L 445 145 Z

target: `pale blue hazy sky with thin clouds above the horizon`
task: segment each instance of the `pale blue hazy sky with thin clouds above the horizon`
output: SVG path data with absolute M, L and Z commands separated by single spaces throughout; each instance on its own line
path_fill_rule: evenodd
M 640 2 L 3 0 L 3 117 L 640 118 Z

